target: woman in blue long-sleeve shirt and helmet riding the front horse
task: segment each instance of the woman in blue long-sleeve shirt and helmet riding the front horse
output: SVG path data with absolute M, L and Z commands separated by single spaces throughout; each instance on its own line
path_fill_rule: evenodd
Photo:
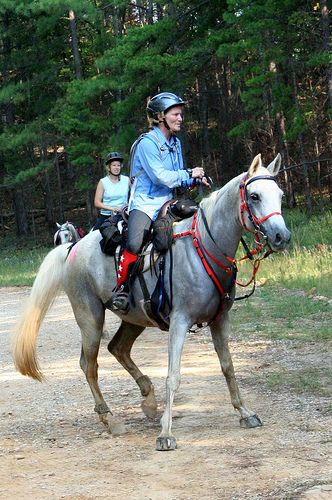
M 130 269 L 160 208 L 173 198 L 174 188 L 190 188 L 194 179 L 208 185 L 203 168 L 185 170 L 183 166 L 181 143 L 176 134 L 181 129 L 184 105 L 171 92 L 152 97 L 146 108 L 150 131 L 133 145 L 131 175 L 135 180 L 128 207 L 128 238 L 120 257 L 117 286 L 106 304 L 114 312 L 128 311 Z

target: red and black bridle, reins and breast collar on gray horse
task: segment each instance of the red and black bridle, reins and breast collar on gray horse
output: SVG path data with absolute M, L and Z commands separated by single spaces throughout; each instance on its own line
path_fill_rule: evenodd
M 265 259 L 266 257 L 268 257 L 273 252 L 270 249 L 267 252 L 265 252 L 265 254 L 262 257 L 258 257 L 258 255 L 267 246 L 267 242 L 265 242 L 264 244 L 262 244 L 261 241 L 260 241 L 260 236 L 263 236 L 265 238 L 264 233 L 261 231 L 260 224 L 262 222 L 264 222 L 265 220 L 269 219 L 270 217 L 272 217 L 273 215 L 281 215 L 280 212 L 271 212 L 270 214 L 268 214 L 268 215 L 266 215 L 266 216 L 258 219 L 252 213 L 251 208 L 250 208 L 250 204 L 249 204 L 249 201 L 248 201 L 247 186 L 249 184 L 251 184 L 252 182 L 254 182 L 256 180 L 260 180 L 260 179 L 272 180 L 272 181 L 276 182 L 276 178 L 273 177 L 273 176 L 260 175 L 260 176 L 252 177 L 249 180 L 247 180 L 247 175 L 245 175 L 244 178 L 243 178 L 243 180 L 242 180 L 242 182 L 241 182 L 241 185 L 240 185 L 241 224 L 242 224 L 242 227 L 243 227 L 244 230 L 246 230 L 246 231 L 248 231 L 250 233 L 254 233 L 254 235 L 255 235 L 255 242 L 256 242 L 256 248 L 253 249 L 253 250 L 250 250 L 249 247 L 247 246 L 246 242 L 244 241 L 244 239 L 241 238 L 241 243 L 242 243 L 242 245 L 244 246 L 244 248 L 246 250 L 246 255 L 244 257 L 242 257 L 241 259 L 236 260 L 233 257 L 230 257 L 230 256 L 226 255 L 224 252 L 222 252 L 220 250 L 220 248 L 218 248 L 217 243 L 215 242 L 215 239 L 213 238 L 213 235 L 212 235 L 211 230 L 209 228 L 209 225 L 208 225 L 208 222 L 206 220 L 204 211 L 203 211 L 203 209 L 201 207 L 199 208 L 199 213 L 201 215 L 201 218 L 202 218 L 203 224 L 205 226 L 205 229 L 206 229 L 206 231 L 207 231 L 210 239 L 213 241 L 214 245 L 218 248 L 219 253 L 221 253 L 225 257 L 225 259 L 228 261 L 228 263 L 229 263 L 228 265 L 225 265 L 220 260 L 216 259 L 207 250 L 207 248 L 205 248 L 205 246 L 203 244 L 203 241 L 202 241 L 202 236 L 201 236 L 201 233 L 200 233 L 200 230 L 199 230 L 199 227 L 198 227 L 198 223 L 197 223 L 197 212 L 195 212 L 195 214 L 193 216 L 191 228 L 189 230 L 184 231 L 182 233 L 175 233 L 175 234 L 173 234 L 173 238 L 174 239 L 183 238 L 185 236 L 191 236 L 192 241 L 193 241 L 193 245 L 194 245 L 194 247 L 195 247 L 195 249 L 196 249 L 196 251 L 197 251 L 197 253 L 198 253 L 198 255 L 199 255 L 200 259 L 201 259 L 201 261 L 202 261 L 204 269 L 205 269 L 205 271 L 208 274 L 209 278 L 212 280 L 212 282 L 214 283 L 214 285 L 216 286 L 216 288 L 217 288 L 217 290 L 219 292 L 219 295 L 220 295 L 220 306 L 219 306 L 216 314 L 209 321 L 208 324 L 212 323 L 213 321 L 215 321 L 216 319 L 218 319 L 220 317 L 220 315 L 221 315 L 221 313 L 222 313 L 222 311 L 224 309 L 225 299 L 232 300 L 232 301 L 242 300 L 242 299 L 246 299 L 246 298 L 250 297 L 254 293 L 255 287 L 256 287 L 256 274 L 258 272 L 260 263 L 261 263 L 261 261 L 263 259 Z M 248 229 L 248 227 L 245 224 L 245 220 L 244 220 L 244 213 L 245 212 L 248 214 L 248 218 L 249 218 L 250 222 L 252 223 L 252 225 L 254 227 L 254 231 Z M 256 258 L 254 256 L 256 256 Z M 218 276 L 216 275 L 215 271 L 213 270 L 211 264 L 207 260 L 207 257 L 214 264 L 216 264 L 218 267 L 220 267 L 226 274 L 228 274 L 229 276 L 232 277 L 231 285 L 230 285 L 230 288 L 229 288 L 228 291 L 225 291 L 224 288 L 222 287 L 222 285 L 220 283 L 220 280 L 218 279 Z M 236 279 L 237 271 L 238 271 L 237 263 L 238 262 L 242 262 L 242 261 L 244 261 L 246 259 L 250 259 L 251 261 L 253 261 L 253 272 L 252 272 L 252 277 L 250 278 L 250 280 L 247 283 L 244 284 L 244 283 L 240 283 Z M 239 285 L 241 287 L 247 287 L 252 282 L 254 282 L 253 289 L 251 290 L 251 292 L 249 294 L 246 294 L 246 295 L 244 295 L 242 297 L 235 297 L 233 299 L 231 298 L 231 291 L 232 291 L 232 289 L 233 289 L 233 287 L 234 287 L 235 284 L 237 284 L 237 285 Z

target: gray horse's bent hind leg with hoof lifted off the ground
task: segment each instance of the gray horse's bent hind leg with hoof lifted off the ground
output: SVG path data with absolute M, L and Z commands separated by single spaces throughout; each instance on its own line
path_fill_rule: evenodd
M 132 325 L 122 321 L 120 328 L 108 344 L 108 350 L 116 357 L 124 369 L 130 373 L 140 388 L 141 394 L 144 397 L 141 403 L 144 414 L 149 418 L 154 418 L 157 412 L 157 402 L 153 384 L 149 377 L 143 375 L 130 356 L 131 348 L 144 328 L 143 326 Z

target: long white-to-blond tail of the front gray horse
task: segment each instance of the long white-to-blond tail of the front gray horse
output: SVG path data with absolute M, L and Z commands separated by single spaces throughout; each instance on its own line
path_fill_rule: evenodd
M 15 366 L 22 375 L 40 382 L 43 374 L 36 357 L 36 340 L 45 314 L 62 290 L 67 253 L 67 245 L 60 245 L 45 257 L 14 329 L 12 349 Z

